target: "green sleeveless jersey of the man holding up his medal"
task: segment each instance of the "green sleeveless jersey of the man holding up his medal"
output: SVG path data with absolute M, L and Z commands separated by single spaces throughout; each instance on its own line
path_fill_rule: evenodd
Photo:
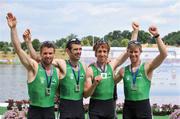
M 91 98 L 99 99 L 99 100 L 112 99 L 114 93 L 114 79 L 113 79 L 113 71 L 111 66 L 107 64 L 106 71 L 104 73 L 101 73 L 101 71 L 94 65 L 91 65 L 91 68 L 93 70 L 94 78 L 98 75 L 101 75 L 103 77 L 103 79 L 97 85 Z

